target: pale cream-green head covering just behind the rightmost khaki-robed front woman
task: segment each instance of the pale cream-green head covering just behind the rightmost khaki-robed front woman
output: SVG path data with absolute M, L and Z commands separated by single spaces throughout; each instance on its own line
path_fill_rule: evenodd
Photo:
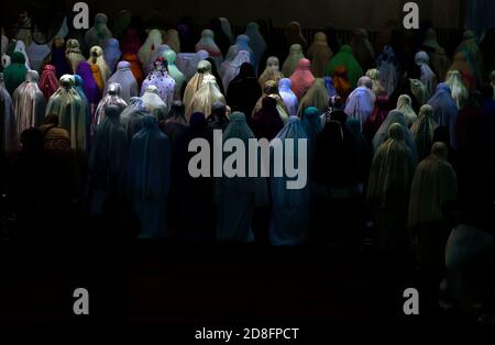
M 422 105 L 419 110 L 418 121 L 410 129 L 416 142 L 419 159 L 424 159 L 430 154 L 436 127 L 433 109 L 428 104 Z

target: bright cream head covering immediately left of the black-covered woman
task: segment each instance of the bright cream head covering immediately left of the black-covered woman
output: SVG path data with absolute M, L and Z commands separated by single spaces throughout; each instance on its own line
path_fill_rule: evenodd
M 193 97 L 189 107 L 186 108 L 186 119 L 195 112 L 210 114 L 211 107 L 218 101 L 226 103 L 226 98 L 220 92 L 215 77 L 207 75 L 202 78 L 201 86 Z

